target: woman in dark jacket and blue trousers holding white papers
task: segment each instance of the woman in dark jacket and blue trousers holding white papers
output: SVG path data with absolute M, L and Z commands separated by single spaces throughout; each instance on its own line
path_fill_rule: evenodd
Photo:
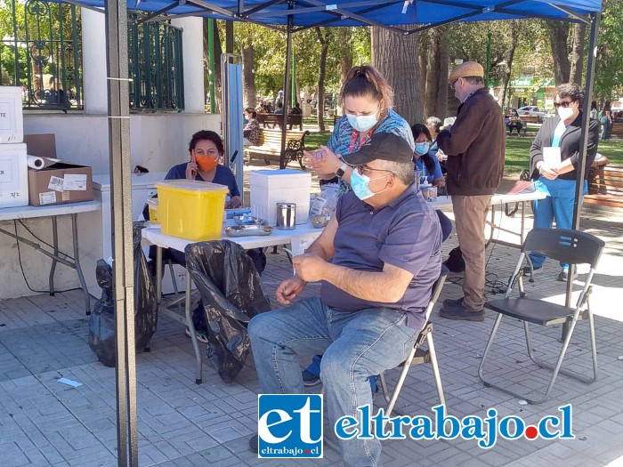
M 579 144 L 582 135 L 582 101 L 584 93 L 575 83 L 567 83 L 556 88 L 554 107 L 557 117 L 546 118 L 530 148 L 530 171 L 535 187 L 544 191 L 547 197 L 535 201 L 534 227 L 551 229 L 552 221 L 556 228 L 570 229 L 575 199 L 576 178 L 579 157 Z M 585 180 L 583 194 L 587 194 L 588 169 L 595 160 L 599 141 L 599 122 L 590 119 L 588 125 L 587 158 L 585 161 Z M 530 253 L 534 270 L 543 266 L 546 256 Z M 558 280 L 569 278 L 569 265 L 561 263 L 562 270 Z M 524 268 L 530 274 L 530 268 Z

